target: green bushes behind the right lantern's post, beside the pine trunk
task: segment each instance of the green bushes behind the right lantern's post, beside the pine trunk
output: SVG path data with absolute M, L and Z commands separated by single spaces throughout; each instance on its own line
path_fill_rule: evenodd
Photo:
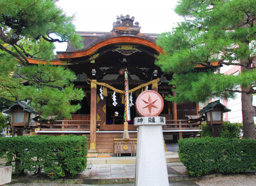
M 219 126 L 220 138 L 241 138 L 243 134 L 243 123 L 230 123 L 230 121 L 223 121 L 224 125 Z M 202 137 L 212 137 L 212 127 L 206 126 L 205 123 L 201 125 L 199 131 Z

